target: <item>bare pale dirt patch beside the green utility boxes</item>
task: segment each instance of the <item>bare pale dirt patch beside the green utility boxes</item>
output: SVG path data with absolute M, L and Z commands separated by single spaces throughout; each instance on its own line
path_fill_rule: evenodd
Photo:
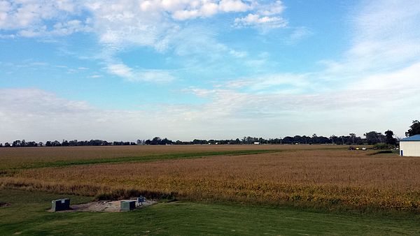
M 71 209 L 59 212 L 120 212 L 120 204 L 122 201 L 127 200 L 88 202 L 78 205 L 71 205 Z M 146 200 L 145 202 L 142 202 L 141 205 L 137 205 L 136 203 L 136 209 L 148 207 L 156 203 L 158 202 L 154 200 Z M 48 210 L 48 212 L 52 211 Z

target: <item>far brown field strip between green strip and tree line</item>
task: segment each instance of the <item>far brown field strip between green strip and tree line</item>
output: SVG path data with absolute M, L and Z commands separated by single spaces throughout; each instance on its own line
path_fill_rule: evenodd
M 329 149 L 334 146 L 304 146 L 304 149 Z M 170 145 L 170 146 L 106 146 L 106 147 L 26 147 L 0 149 L 0 169 L 48 167 L 66 163 L 97 163 L 158 160 L 216 154 L 246 154 L 302 149 L 295 145 Z

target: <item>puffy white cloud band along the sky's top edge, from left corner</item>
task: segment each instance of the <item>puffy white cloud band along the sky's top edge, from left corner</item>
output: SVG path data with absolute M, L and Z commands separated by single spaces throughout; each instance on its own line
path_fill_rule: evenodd
M 248 13 L 235 25 L 283 27 L 281 1 L 243 0 L 1 0 L 0 30 L 24 37 L 93 30 L 103 43 L 155 45 L 179 22 L 223 13 Z M 90 14 L 85 14 L 87 11 Z M 92 19 L 90 18 L 92 16 Z M 254 16 L 255 15 L 255 16 Z M 55 22 L 49 25 L 48 22 Z M 13 31 L 18 31 L 13 33 Z M 10 34 L 9 34 L 10 33 Z

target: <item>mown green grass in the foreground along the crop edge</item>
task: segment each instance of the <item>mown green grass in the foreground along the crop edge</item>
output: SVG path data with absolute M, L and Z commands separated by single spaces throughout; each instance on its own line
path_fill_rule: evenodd
M 420 216 L 311 212 L 290 207 L 159 203 L 133 212 L 49 213 L 40 191 L 0 190 L 0 235 L 419 235 Z M 91 198 L 70 197 L 72 204 Z

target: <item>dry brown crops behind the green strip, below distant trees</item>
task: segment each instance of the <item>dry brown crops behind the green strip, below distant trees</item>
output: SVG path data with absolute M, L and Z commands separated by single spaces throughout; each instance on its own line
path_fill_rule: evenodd
M 300 149 L 296 145 L 170 145 L 170 146 L 106 146 L 106 147 L 15 147 L 0 148 L 0 170 L 27 163 L 51 161 L 76 161 L 91 158 L 116 158 L 160 154 L 196 152 L 223 152 L 258 149 Z M 337 148 L 336 146 L 313 145 L 305 149 Z

